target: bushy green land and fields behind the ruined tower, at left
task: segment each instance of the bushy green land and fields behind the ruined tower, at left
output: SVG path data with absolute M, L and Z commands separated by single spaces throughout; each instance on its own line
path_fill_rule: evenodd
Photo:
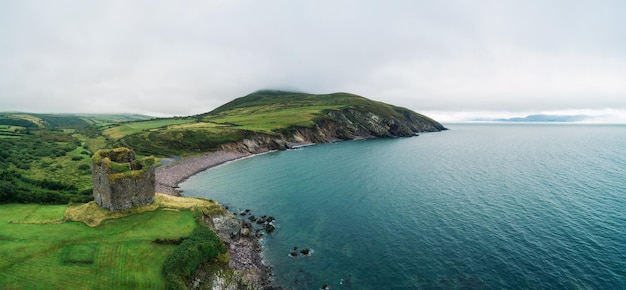
M 0 203 L 86 202 L 100 129 L 139 115 L 0 113 Z

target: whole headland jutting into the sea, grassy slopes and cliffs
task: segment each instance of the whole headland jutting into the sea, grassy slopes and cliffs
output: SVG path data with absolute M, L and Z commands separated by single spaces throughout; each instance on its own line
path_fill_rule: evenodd
M 408 137 L 445 130 L 406 108 L 349 93 L 263 90 L 176 124 L 140 131 L 121 143 L 144 154 L 216 150 L 258 153 L 294 144 L 376 137 Z M 115 128 L 111 129 L 113 132 Z

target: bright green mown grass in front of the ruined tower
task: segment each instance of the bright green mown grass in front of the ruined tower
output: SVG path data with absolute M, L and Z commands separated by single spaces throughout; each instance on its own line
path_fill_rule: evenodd
M 0 289 L 163 288 L 161 267 L 196 227 L 189 210 L 159 208 L 89 227 L 67 206 L 0 205 Z

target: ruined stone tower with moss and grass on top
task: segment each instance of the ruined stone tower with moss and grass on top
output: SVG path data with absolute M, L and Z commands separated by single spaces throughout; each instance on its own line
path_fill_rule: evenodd
M 98 150 L 93 157 L 93 197 L 110 211 L 120 211 L 154 202 L 152 157 L 135 159 L 128 148 Z

